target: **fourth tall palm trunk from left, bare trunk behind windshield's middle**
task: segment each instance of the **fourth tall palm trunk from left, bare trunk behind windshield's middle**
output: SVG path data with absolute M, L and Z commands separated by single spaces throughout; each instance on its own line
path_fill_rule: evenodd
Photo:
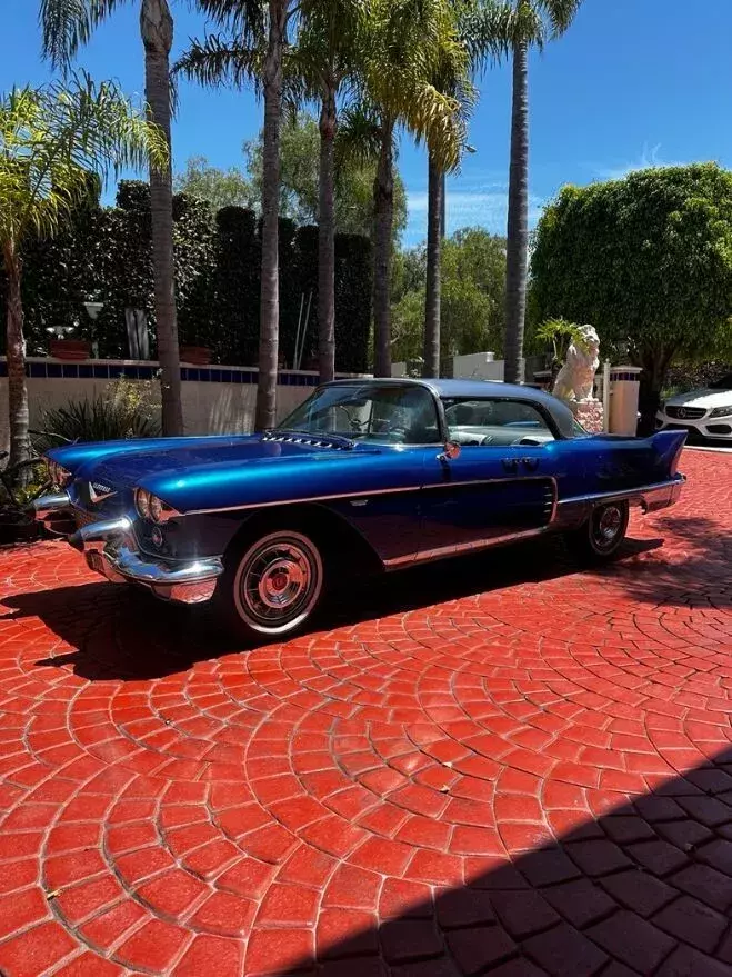
M 385 120 L 373 183 L 373 372 L 391 377 L 391 246 L 394 220 L 393 122 Z

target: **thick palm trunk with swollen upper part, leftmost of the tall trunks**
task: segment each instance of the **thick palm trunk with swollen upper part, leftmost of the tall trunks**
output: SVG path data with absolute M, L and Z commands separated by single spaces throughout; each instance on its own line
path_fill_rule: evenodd
M 173 42 L 173 19 L 168 0 L 142 0 L 140 32 L 144 44 L 144 89 L 150 118 L 162 129 L 170 150 L 170 49 Z M 170 437 L 183 433 L 173 266 L 171 162 L 164 171 L 150 169 L 150 209 L 162 430 Z

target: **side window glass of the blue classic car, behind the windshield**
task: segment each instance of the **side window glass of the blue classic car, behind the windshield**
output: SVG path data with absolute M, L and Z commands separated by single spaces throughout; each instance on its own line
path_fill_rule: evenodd
M 554 440 L 544 416 L 527 401 L 447 400 L 444 406 L 450 440 L 459 445 L 504 447 Z

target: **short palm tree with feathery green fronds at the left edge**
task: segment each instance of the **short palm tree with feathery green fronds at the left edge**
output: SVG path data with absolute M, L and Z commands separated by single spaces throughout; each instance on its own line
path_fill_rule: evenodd
M 0 100 L 0 249 L 8 277 L 10 460 L 30 455 L 21 298 L 22 247 L 50 237 L 89 192 L 89 176 L 146 166 L 166 170 L 163 133 L 112 82 L 72 74 L 68 86 L 13 89 Z

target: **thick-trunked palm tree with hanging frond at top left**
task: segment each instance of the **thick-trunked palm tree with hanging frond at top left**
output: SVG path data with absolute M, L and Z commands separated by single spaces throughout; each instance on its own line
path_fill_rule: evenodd
M 40 0 L 43 53 L 53 66 L 68 68 L 94 29 L 120 0 Z M 170 49 L 173 19 L 168 0 L 140 0 L 140 34 L 144 48 L 144 89 L 149 116 L 164 133 L 170 152 Z M 166 435 L 183 432 L 180 399 L 180 355 L 173 273 L 172 173 L 168 163 L 150 170 L 152 267 L 156 329 L 162 388 L 162 428 Z

